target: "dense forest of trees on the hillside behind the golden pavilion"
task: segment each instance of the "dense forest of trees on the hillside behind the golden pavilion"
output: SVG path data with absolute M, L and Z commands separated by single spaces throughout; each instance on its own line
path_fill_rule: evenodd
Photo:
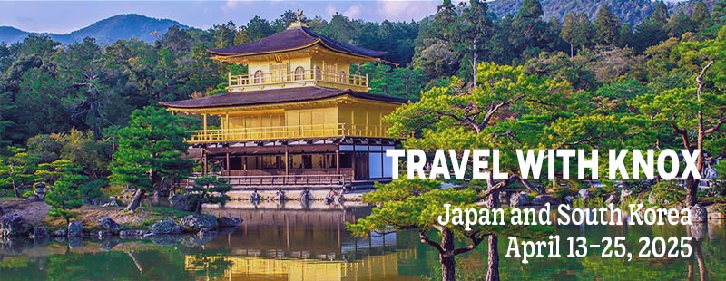
M 695 64 L 685 66 L 672 50 L 718 41 L 726 21 L 723 0 L 690 1 L 681 5 L 692 8 L 678 12 L 649 2 L 639 20 L 623 14 L 634 12 L 623 3 L 644 1 L 606 1 L 597 10 L 547 17 L 556 2 L 524 0 L 500 16 L 500 2 L 445 0 L 435 15 L 418 22 L 371 23 L 341 14 L 307 22 L 338 41 L 388 51 L 384 59 L 397 67 L 366 63 L 355 70 L 371 77 L 371 92 L 419 97 L 452 82 L 472 89 L 482 63 L 496 63 L 567 82 L 584 99 L 577 102 L 600 99 L 594 110 L 615 114 L 636 111 L 635 102 L 626 99 L 692 86 Z M 256 16 L 207 30 L 172 26 L 153 44 L 134 39 L 99 44 L 90 37 L 60 44 L 42 34 L 0 44 L 3 163 L 15 156 L 16 147 L 34 156 L 35 165 L 93 150 L 101 160 L 89 156 L 74 164 L 86 176 L 106 180 L 117 145 L 113 132 L 127 125 L 132 111 L 225 92 L 227 73 L 246 69 L 213 61 L 206 50 L 258 40 L 294 20 L 295 13 L 287 11 L 273 20 Z

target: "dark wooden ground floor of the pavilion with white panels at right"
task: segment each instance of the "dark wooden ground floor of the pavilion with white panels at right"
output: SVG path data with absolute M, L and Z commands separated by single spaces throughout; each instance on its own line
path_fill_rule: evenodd
M 391 180 L 397 140 L 330 138 L 194 145 L 201 174 L 230 180 L 234 189 L 365 189 Z M 186 183 L 191 185 L 191 179 Z

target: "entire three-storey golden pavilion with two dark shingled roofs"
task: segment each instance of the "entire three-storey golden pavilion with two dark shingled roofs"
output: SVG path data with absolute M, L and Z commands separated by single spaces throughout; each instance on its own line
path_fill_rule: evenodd
M 368 76 L 351 65 L 379 62 L 385 52 L 343 44 L 300 20 L 258 41 L 208 50 L 215 60 L 246 65 L 228 74 L 228 92 L 162 102 L 199 114 L 192 150 L 235 187 L 332 189 L 370 187 L 391 179 L 383 117 L 405 99 L 368 93 Z M 220 125 L 211 128 L 208 118 Z

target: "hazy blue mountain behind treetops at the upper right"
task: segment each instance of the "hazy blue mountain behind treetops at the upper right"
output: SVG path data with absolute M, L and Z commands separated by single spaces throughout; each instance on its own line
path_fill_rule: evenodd
M 519 8 L 522 7 L 523 0 L 495 0 L 488 2 L 489 10 L 495 15 L 502 17 L 507 14 L 515 15 Z M 630 23 L 635 26 L 643 21 L 648 15 L 655 10 L 655 5 L 659 1 L 651 0 L 540 0 L 544 18 L 549 19 L 555 17 L 560 22 L 564 19 L 564 15 L 570 12 L 584 13 L 594 20 L 597 10 L 600 6 L 607 5 L 610 11 L 620 18 L 623 23 Z M 704 3 L 711 7 L 715 0 L 704 0 Z M 690 14 L 698 1 L 666 1 L 668 11 L 671 15 L 677 15 L 678 11 L 684 11 Z

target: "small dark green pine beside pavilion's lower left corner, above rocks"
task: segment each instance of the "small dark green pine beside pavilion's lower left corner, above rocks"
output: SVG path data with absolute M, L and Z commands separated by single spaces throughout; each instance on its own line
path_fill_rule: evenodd
M 226 193 L 232 189 L 228 182 L 227 179 L 210 175 L 194 179 L 194 185 L 186 189 L 190 203 L 196 206 L 198 213 L 201 212 L 202 204 L 224 205 L 230 200 Z

